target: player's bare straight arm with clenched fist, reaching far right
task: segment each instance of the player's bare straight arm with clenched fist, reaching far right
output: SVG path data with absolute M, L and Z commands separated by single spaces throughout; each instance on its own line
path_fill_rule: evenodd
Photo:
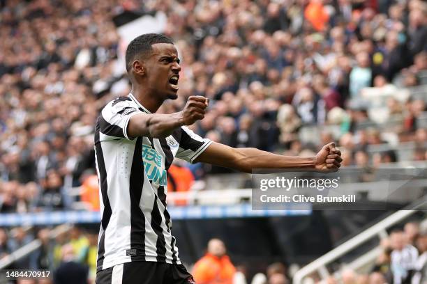
M 231 148 L 211 143 L 195 162 L 201 161 L 237 171 L 251 173 L 253 168 L 311 168 L 317 171 L 338 171 L 341 159 L 335 143 L 329 143 L 314 157 L 282 156 L 255 148 Z

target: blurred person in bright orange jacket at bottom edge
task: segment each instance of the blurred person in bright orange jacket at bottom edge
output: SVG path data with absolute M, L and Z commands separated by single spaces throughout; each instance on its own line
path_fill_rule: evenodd
M 220 239 L 211 239 L 207 253 L 193 267 L 193 277 L 200 284 L 232 284 L 236 268 L 226 255 L 225 245 Z

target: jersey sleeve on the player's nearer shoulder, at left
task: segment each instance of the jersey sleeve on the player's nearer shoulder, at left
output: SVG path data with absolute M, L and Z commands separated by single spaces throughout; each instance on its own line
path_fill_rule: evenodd
M 119 97 L 109 102 L 101 111 L 99 118 L 100 133 L 110 136 L 114 139 L 133 140 L 127 133 L 128 123 L 132 116 L 140 111 L 132 100 L 127 97 Z

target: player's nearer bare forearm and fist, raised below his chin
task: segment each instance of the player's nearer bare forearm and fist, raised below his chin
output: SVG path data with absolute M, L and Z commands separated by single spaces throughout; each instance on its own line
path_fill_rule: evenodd
M 140 113 L 132 116 L 128 123 L 128 136 L 151 136 L 162 138 L 172 134 L 174 129 L 183 125 L 192 125 L 204 118 L 207 99 L 202 96 L 188 97 L 183 111 L 172 114 Z

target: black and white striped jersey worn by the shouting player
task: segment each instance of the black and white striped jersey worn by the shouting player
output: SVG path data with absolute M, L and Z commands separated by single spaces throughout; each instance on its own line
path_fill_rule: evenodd
M 131 261 L 181 263 L 166 209 L 167 170 L 174 157 L 193 162 L 211 143 L 188 127 L 163 139 L 129 137 L 137 113 L 149 111 L 130 94 L 108 103 L 96 123 L 98 271 Z

